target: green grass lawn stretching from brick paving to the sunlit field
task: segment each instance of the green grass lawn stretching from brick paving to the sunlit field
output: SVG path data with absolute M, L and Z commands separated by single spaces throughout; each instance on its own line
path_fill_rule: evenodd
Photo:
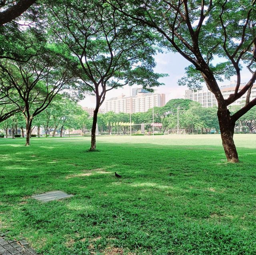
M 0 231 L 44 255 L 256 254 L 256 135 L 0 139 Z M 122 175 L 118 179 L 114 172 Z M 41 203 L 52 190 L 72 198 Z

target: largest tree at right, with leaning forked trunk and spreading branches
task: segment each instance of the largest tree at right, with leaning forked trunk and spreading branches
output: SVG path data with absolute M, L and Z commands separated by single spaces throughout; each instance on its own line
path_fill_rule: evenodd
M 256 80 L 256 1 L 251 0 L 107 0 L 122 14 L 158 31 L 164 47 L 180 53 L 192 65 L 180 84 L 204 81 L 218 102 L 222 144 L 229 162 L 238 162 L 233 135 L 236 121 L 256 105 L 250 92 Z M 218 63 L 213 62 L 215 57 Z M 241 85 L 242 63 L 251 74 Z M 236 75 L 235 92 L 224 99 L 218 81 Z M 228 105 L 246 94 L 244 107 L 233 115 Z

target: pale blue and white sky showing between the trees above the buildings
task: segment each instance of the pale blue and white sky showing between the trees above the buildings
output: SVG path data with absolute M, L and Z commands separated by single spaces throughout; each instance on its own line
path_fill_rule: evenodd
M 223 59 L 219 59 L 223 61 Z M 167 73 L 169 76 L 162 77 L 158 81 L 161 83 L 164 83 L 165 85 L 162 85 L 160 87 L 154 87 L 155 93 L 164 93 L 165 101 L 166 103 L 170 99 L 174 98 L 184 98 L 185 90 L 188 89 L 185 86 L 179 86 L 178 85 L 178 79 L 184 76 L 185 67 L 190 65 L 190 62 L 184 59 L 179 53 L 173 53 L 173 52 L 167 52 L 167 53 L 158 53 L 155 55 L 155 61 L 156 61 L 156 67 L 154 71 L 156 73 Z M 215 62 L 218 61 L 218 58 L 215 59 Z M 243 69 L 241 72 L 241 82 L 248 81 L 250 79 L 250 73 L 246 70 L 246 68 Z M 231 77 L 231 81 L 236 80 L 236 77 Z M 219 83 L 219 85 L 226 85 L 229 84 L 229 81 L 226 80 L 222 83 Z M 140 87 L 140 86 L 132 86 L 132 88 Z M 126 85 L 119 89 L 113 89 L 111 91 L 108 91 L 106 94 L 106 100 L 112 98 L 112 97 L 118 97 L 121 94 L 124 94 L 126 96 L 130 95 L 130 86 Z M 102 104 L 101 108 L 103 109 L 105 107 L 105 102 Z M 95 107 L 95 97 L 86 95 L 86 98 L 79 102 L 80 105 L 83 107 Z

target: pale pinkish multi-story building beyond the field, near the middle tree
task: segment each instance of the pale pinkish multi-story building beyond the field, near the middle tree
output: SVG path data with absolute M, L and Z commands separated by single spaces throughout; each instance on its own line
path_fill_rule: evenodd
M 105 113 L 139 113 L 154 107 L 165 105 L 165 94 L 149 93 L 143 89 L 133 89 L 132 96 L 121 95 L 106 101 Z

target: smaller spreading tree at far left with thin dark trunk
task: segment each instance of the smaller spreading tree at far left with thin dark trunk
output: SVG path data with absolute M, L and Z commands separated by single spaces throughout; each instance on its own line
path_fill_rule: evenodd
M 69 63 L 52 51 L 26 63 L 0 60 L 1 92 L 20 109 L 26 119 L 26 145 L 30 145 L 33 118 L 44 111 L 60 91 L 76 81 Z M 7 91 L 7 92 L 6 92 Z

